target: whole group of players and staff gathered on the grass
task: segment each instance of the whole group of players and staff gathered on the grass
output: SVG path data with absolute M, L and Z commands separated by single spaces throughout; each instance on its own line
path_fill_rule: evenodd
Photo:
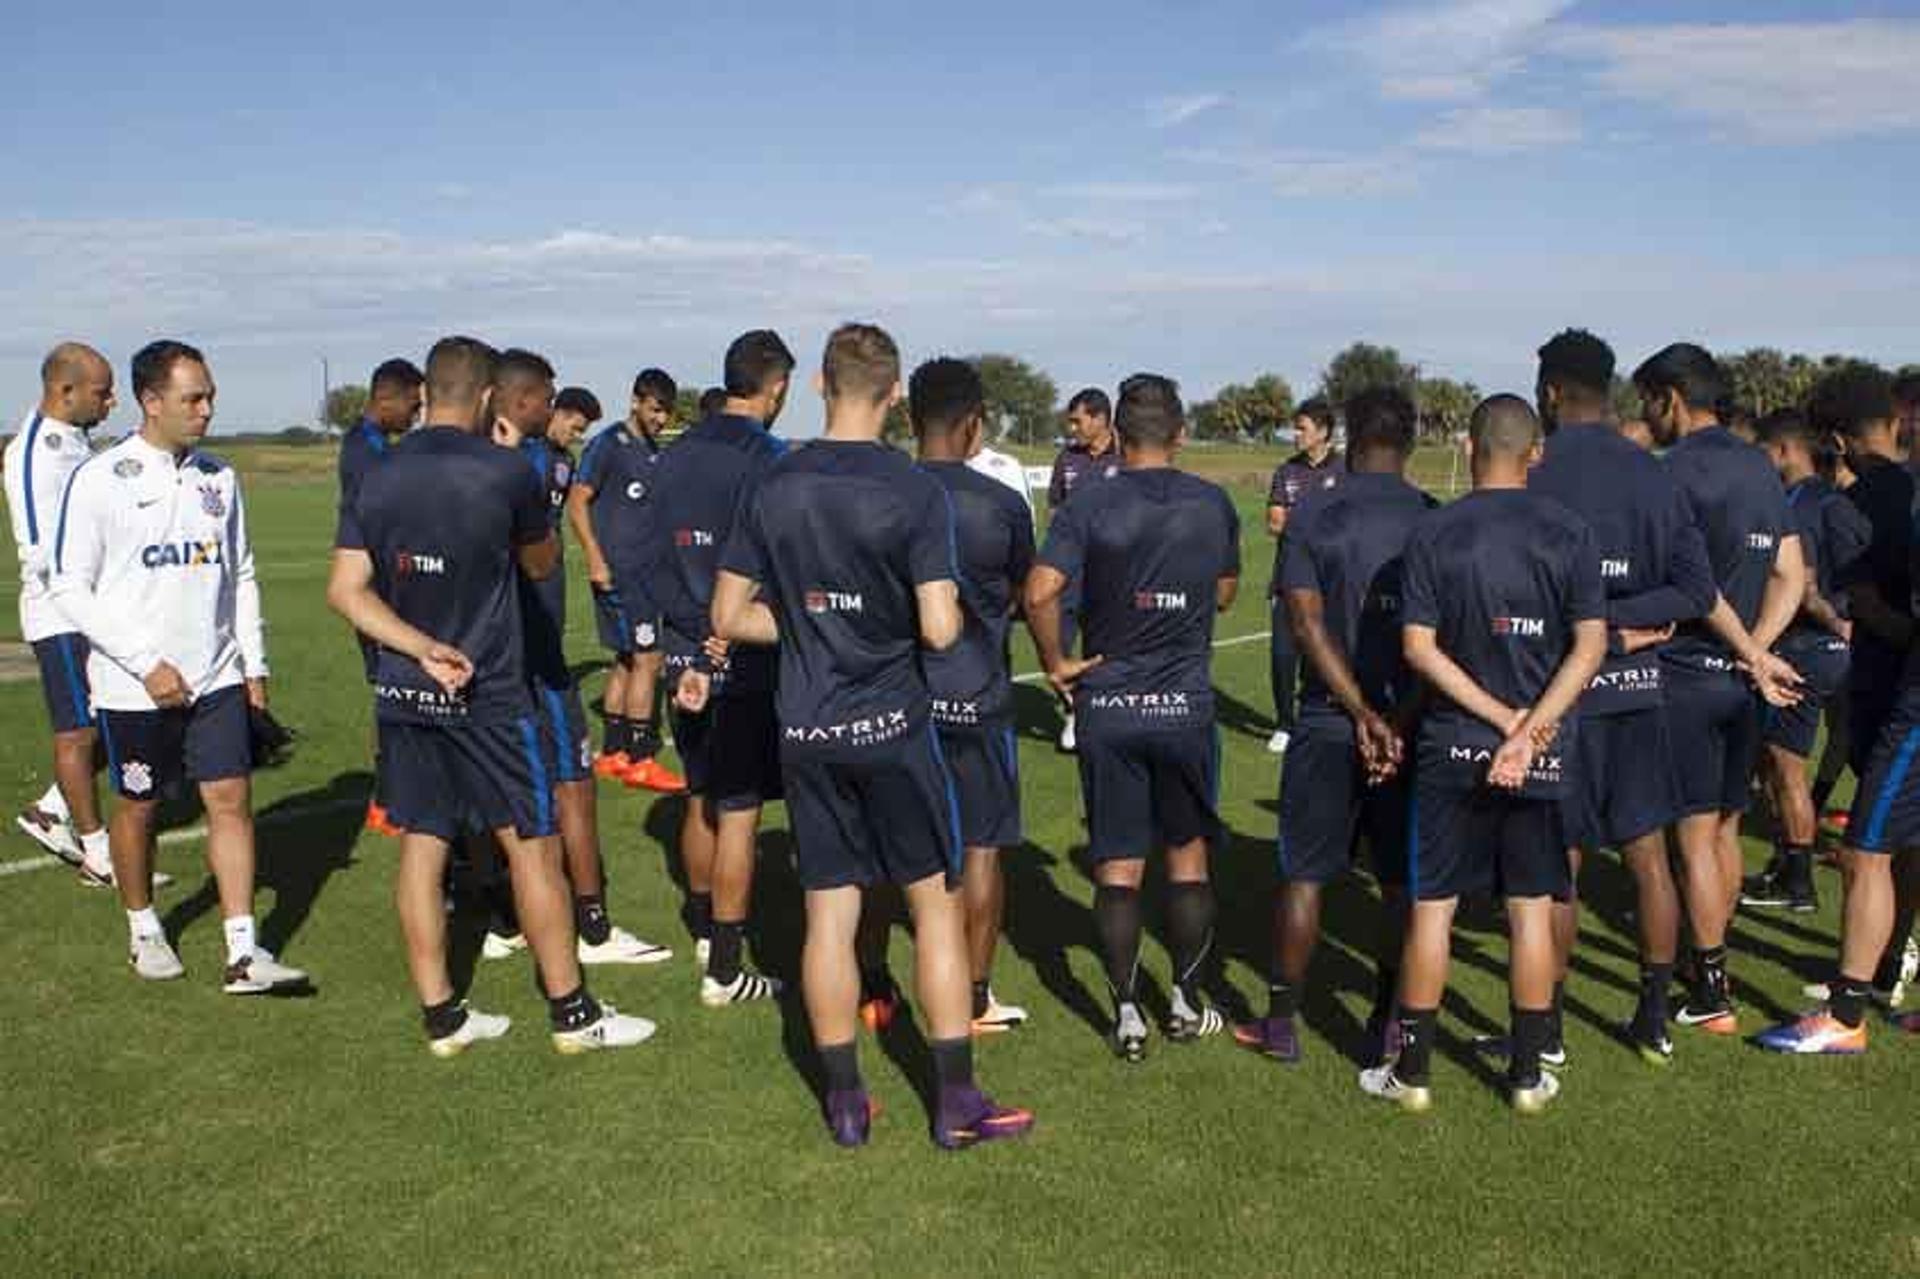
M 902 382 L 893 338 L 831 334 L 816 374 L 826 436 L 772 434 L 797 361 L 755 330 L 670 446 L 678 386 L 647 369 L 624 421 L 557 388 L 526 350 L 444 338 L 374 371 L 340 453 L 326 599 L 361 638 L 376 803 L 399 837 L 396 906 L 428 1049 L 455 1056 L 509 1020 L 447 970 L 449 860 L 503 870 L 486 954 L 530 951 L 561 1052 L 643 1043 L 653 1022 L 588 993 L 595 964 L 655 964 L 612 924 L 595 778 L 682 797 L 684 918 L 708 1008 L 783 987 L 745 954 L 756 837 L 783 799 L 804 889 L 801 993 L 833 1141 L 876 1114 L 858 1029 L 899 1010 L 885 920 L 912 916 L 935 1072 L 933 1137 L 1018 1137 L 1033 1116 L 973 1079 L 973 1037 L 1025 1022 L 993 995 L 1000 855 L 1021 841 L 1010 632 L 1023 616 L 1066 703 L 1112 995 L 1110 1045 L 1140 1060 L 1142 881 L 1164 862 L 1173 958 L 1164 1033 L 1229 1029 L 1208 1001 L 1223 835 L 1213 618 L 1240 578 L 1229 495 L 1177 465 L 1185 409 L 1158 374 L 1087 390 L 1037 543 L 1023 492 L 979 463 L 985 392 L 964 361 Z M 1859 797 L 1839 853 L 1837 976 L 1822 1008 L 1759 1037 L 1859 1052 L 1866 1004 L 1899 1002 L 1920 845 L 1914 482 L 1901 388 L 1830 374 L 1805 413 L 1720 424 L 1713 357 L 1670 346 L 1634 373 L 1655 457 L 1609 422 L 1613 351 L 1569 330 L 1540 350 L 1534 403 L 1494 396 L 1467 430 L 1473 492 L 1407 480 L 1413 403 L 1367 390 L 1304 405 L 1302 455 L 1275 474 L 1273 670 L 1284 755 L 1269 1010 L 1242 1045 L 1300 1058 L 1296 1020 L 1321 897 L 1361 843 L 1380 883 L 1365 1093 L 1432 1104 L 1434 1018 L 1461 897 L 1494 895 L 1511 935 L 1513 1104 L 1546 1108 L 1567 1062 L 1561 1004 L 1582 858 L 1617 849 L 1636 883 L 1640 1001 L 1622 1037 L 1655 1064 L 1668 1026 L 1734 1033 L 1726 937 L 1740 901 L 1812 908 L 1809 757 L 1828 709 Z M 267 705 L 265 630 L 234 472 L 200 449 L 205 357 L 156 342 L 132 361 L 140 428 L 94 453 L 111 367 L 61 346 L 8 446 L 23 626 L 54 720 L 54 789 L 21 826 L 113 883 L 142 977 L 182 964 L 152 910 L 156 801 L 194 782 L 227 918 L 225 985 L 305 983 L 255 937 L 248 774 Z M 918 459 L 883 442 L 904 398 Z M 1916 396 L 1914 399 L 1920 399 Z M 1334 447 L 1344 421 L 1344 459 Z M 1845 495 L 1822 469 L 1845 465 Z M 563 542 L 586 555 L 611 655 L 595 753 L 566 661 Z M 1851 661 L 1849 661 L 1851 657 Z M 1294 714 L 1292 678 L 1304 666 Z M 660 703 L 684 776 L 666 768 Z M 1843 711 L 1843 712 L 1839 712 Z M 119 795 L 94 801 L 98 745 Z M 1836 728 L 1843 726 L 1843 728 Z M 1778 857 L 1741 878 L 1755 768 Z M 1688 945 L 1682 949 L 1682 937 Z M 1668 989 L 1684 985 L 1678 1008 Z

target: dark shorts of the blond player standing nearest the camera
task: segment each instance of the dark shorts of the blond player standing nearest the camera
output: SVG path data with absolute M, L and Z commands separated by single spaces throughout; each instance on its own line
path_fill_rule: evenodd
M 872 759 L 781 751 L 787 820 L 808 891 L 960 878 L 960 801 L 933 726 Z

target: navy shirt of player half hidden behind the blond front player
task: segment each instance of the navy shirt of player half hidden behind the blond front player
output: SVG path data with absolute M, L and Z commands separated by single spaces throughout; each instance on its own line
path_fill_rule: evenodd
M 1004 724 L 1014 712 L 1008 634 L 1033 568 L 1033 513 L 1020 494 L 960 461 L 920 469 L 952 501 L 966 628 L 945 653 L 924 657 L 933 718 L 948 728 Z

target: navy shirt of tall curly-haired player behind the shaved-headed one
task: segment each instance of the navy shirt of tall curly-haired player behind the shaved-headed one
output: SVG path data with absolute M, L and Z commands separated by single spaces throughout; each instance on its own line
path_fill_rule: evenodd
M 1659 630 L 1713 613 L 1718 584 L 1707 542 L 1661 459 L 1599 422 L 1565 422 L 1548 436 L 1528 492 L 1551 497 L 1594 532 L 1607 590 L 1607 661 L 1580 697 L 1580 714 L 1628 714 L 1663 701 L 1659 647 L 1619 653 L 1611 632 Z

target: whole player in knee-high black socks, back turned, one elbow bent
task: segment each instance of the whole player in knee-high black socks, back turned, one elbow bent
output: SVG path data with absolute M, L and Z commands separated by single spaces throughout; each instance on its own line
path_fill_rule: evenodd
M 1156 851 L 1167 858 L 1173 949 L 1167 1037 L 1225 1029 L 1200 981 L 1213 949 L 1208 860 L 1221 833 L 1213 615 L 1240 586 L 1240 519 L 1221 488 L 1175 469 L 1187 417 L 1169 378 L 1127 378 L 1114 424 L 1121 469 L 1054 513 L 1027 576 L 1027 618 L 1046 678 L 1073 699 L 1112 1047 L 1139 1062 L 1140 880 Z M 1069 657 L 1060 638 L 1069 582 L 1081 582 L 1087 657 Z

